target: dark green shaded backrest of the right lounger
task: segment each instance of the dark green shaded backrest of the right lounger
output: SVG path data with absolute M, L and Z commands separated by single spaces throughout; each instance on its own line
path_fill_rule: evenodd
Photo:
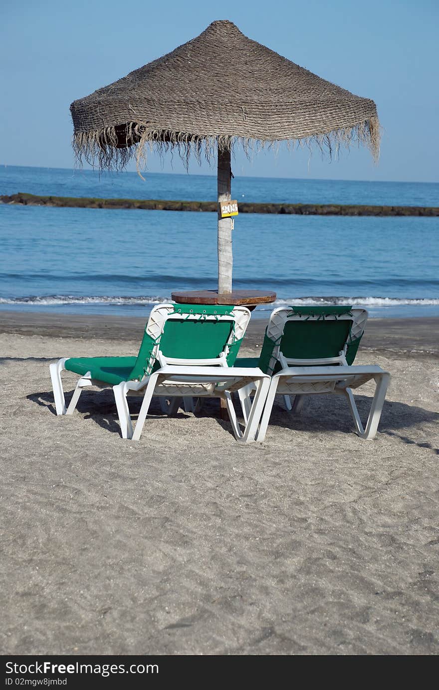
M 324 359 L 346 351 L 352 364 L 364 333 L 367 312 L 350 306 L 274 309 L 270 316 L 259 366 L 272 374 L 279 371 L 279 353 L 287 359 Z

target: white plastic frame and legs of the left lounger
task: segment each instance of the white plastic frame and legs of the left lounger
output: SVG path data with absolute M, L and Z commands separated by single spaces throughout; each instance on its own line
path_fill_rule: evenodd
M 191 400 L 193 397 L 219 397 L 226 402 L 227 412 L 236 440 L 242 442 L 253 441 L 270 386 L 270 377 L 259 368 L 234 368 L 228 366 L 226 359 L 229 351 L 228 345 L 225 346 L 223 353 L 219 357 L 212 359 L 173 359 L 165 357 L 160 352 L 160 334 L 163 333 L 167 319 L 181 319 L 180 314 L 174 313 L 175 308 L 176 305 L 174 304 L 160 304 L 151 311 L 147 324 L 147 333 L 154 340 L 158 340 L 153 351 L 153 359 L 158 360 L 160 369 L 150 375 L 145 375 L 140 381 L 122 381 L 120 384 L 111 386 L 111 384 L 106 382 L 92 379 L 91 373 L 87 372 L 77 382 L 72 400 L 68 408 L 66 408 L 61 373 L 65 369 L 64 364 L 68 357 L 63 357 L 58 362 L 50 364 L 50 377 L 57 415 L 73 414 L 82 388 L 85 386 L 113 388 L 122 438 L 138 440 L 142 433 L 153 395 L 160 396 L 162 410 L 169 413 L 176 411 L 181 397 L 183 397 L 186 410 L 193 408 Z M 234 337 L 241 339 L 250 320 L 250 311 L 246 307 L 237 306 L 234 307 L 232 314 L 234 319 Z M 189 314 L 187 318 L 198 319 L 199 316 Z M 231 320 L 230 315 L 203 315 L 203 319 L 216 321 L 220 319 Z M 218 371 L 219 369 L 221 369 L 221 373 Z M 252 389 L 256 388 L 256 395 L 251 408 L 247 406 L 248 415 L 245 420 L 245 429 L 241 432 L 236 420 L 231 393 L 239 391 L 249 384 L 252 386 Z M 144 397 L 134 431 L 129 414 L 127 395 L 142 395 Z M 166 399 L 171 399 L 170 404 L 167 404 Z

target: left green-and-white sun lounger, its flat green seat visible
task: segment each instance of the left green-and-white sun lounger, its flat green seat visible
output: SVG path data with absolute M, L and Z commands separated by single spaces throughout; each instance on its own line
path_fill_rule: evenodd
M 270 377 L 257 366 L 234 367 L 250 319 L 245 307 L 160 304 L 149 316 L 137 357 L 63 357 L 50 364 L 57 415 L 71 415 L 82 388 L 113 388 L 123 438 L 138 440 L 153 395 L 165 400 L 220 397 L 237 440 L 254 440 Z M 80 376 L 66 408 L 62 371 Z M 242 432 L 231 394 L 251 384 L 256 395 Z M 133 430 L 127 395 L 141 395 L 142 406 Z M 169 406 L 173 411 L 175 405 Z

